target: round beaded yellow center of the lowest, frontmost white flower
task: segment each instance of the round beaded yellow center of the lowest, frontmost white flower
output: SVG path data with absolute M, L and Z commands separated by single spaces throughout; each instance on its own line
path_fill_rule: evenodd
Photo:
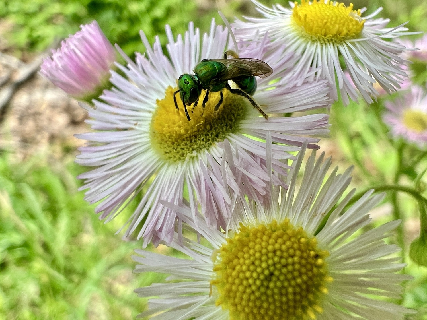
M 316 238 L 286 219 L 243 226 L 213 255 L 216 305 L 230 320 L 305 320 L 321 313 L 332 277 Z

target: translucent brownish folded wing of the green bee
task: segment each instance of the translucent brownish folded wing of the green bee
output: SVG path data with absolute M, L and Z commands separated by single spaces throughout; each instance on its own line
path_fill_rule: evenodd
M 222 76 L 222 80 L 232 80 L 241 76 L 268 77 L 273 73 L 273 69 L 264 61 L 253 58 L 236 59 L 213 59 L 227 66 L 227 73 Z

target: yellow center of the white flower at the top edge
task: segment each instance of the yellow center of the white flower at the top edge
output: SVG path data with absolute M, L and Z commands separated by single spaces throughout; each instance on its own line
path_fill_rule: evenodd
M 301 5 L 295 2 L 292 21 L 295 29 L 311 41 L 337 44 L 359 37 L 365 23 L 360 16 L 360 9 L 353 10 L 353 3 L 346 7 L 333 1 L 301 0 Z

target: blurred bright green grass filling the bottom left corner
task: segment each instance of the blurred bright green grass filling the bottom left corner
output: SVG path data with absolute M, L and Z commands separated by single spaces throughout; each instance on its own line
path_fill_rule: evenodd
M 139 245 L 114 235 L 120 217 L 100 223 L 77 170 L 0 157 L 0 319 L 135 319 L 133 289 L 159 280 L 132 274 Z

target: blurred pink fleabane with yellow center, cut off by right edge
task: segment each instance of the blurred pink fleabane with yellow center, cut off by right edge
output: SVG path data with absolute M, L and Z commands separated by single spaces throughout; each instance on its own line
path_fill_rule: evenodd
M 383 120 L 394 137 L 403 137 L 420 148 L 427 147 L 427 94 L 412 85 L 411 91 L 394 102 L 385 102 Z

